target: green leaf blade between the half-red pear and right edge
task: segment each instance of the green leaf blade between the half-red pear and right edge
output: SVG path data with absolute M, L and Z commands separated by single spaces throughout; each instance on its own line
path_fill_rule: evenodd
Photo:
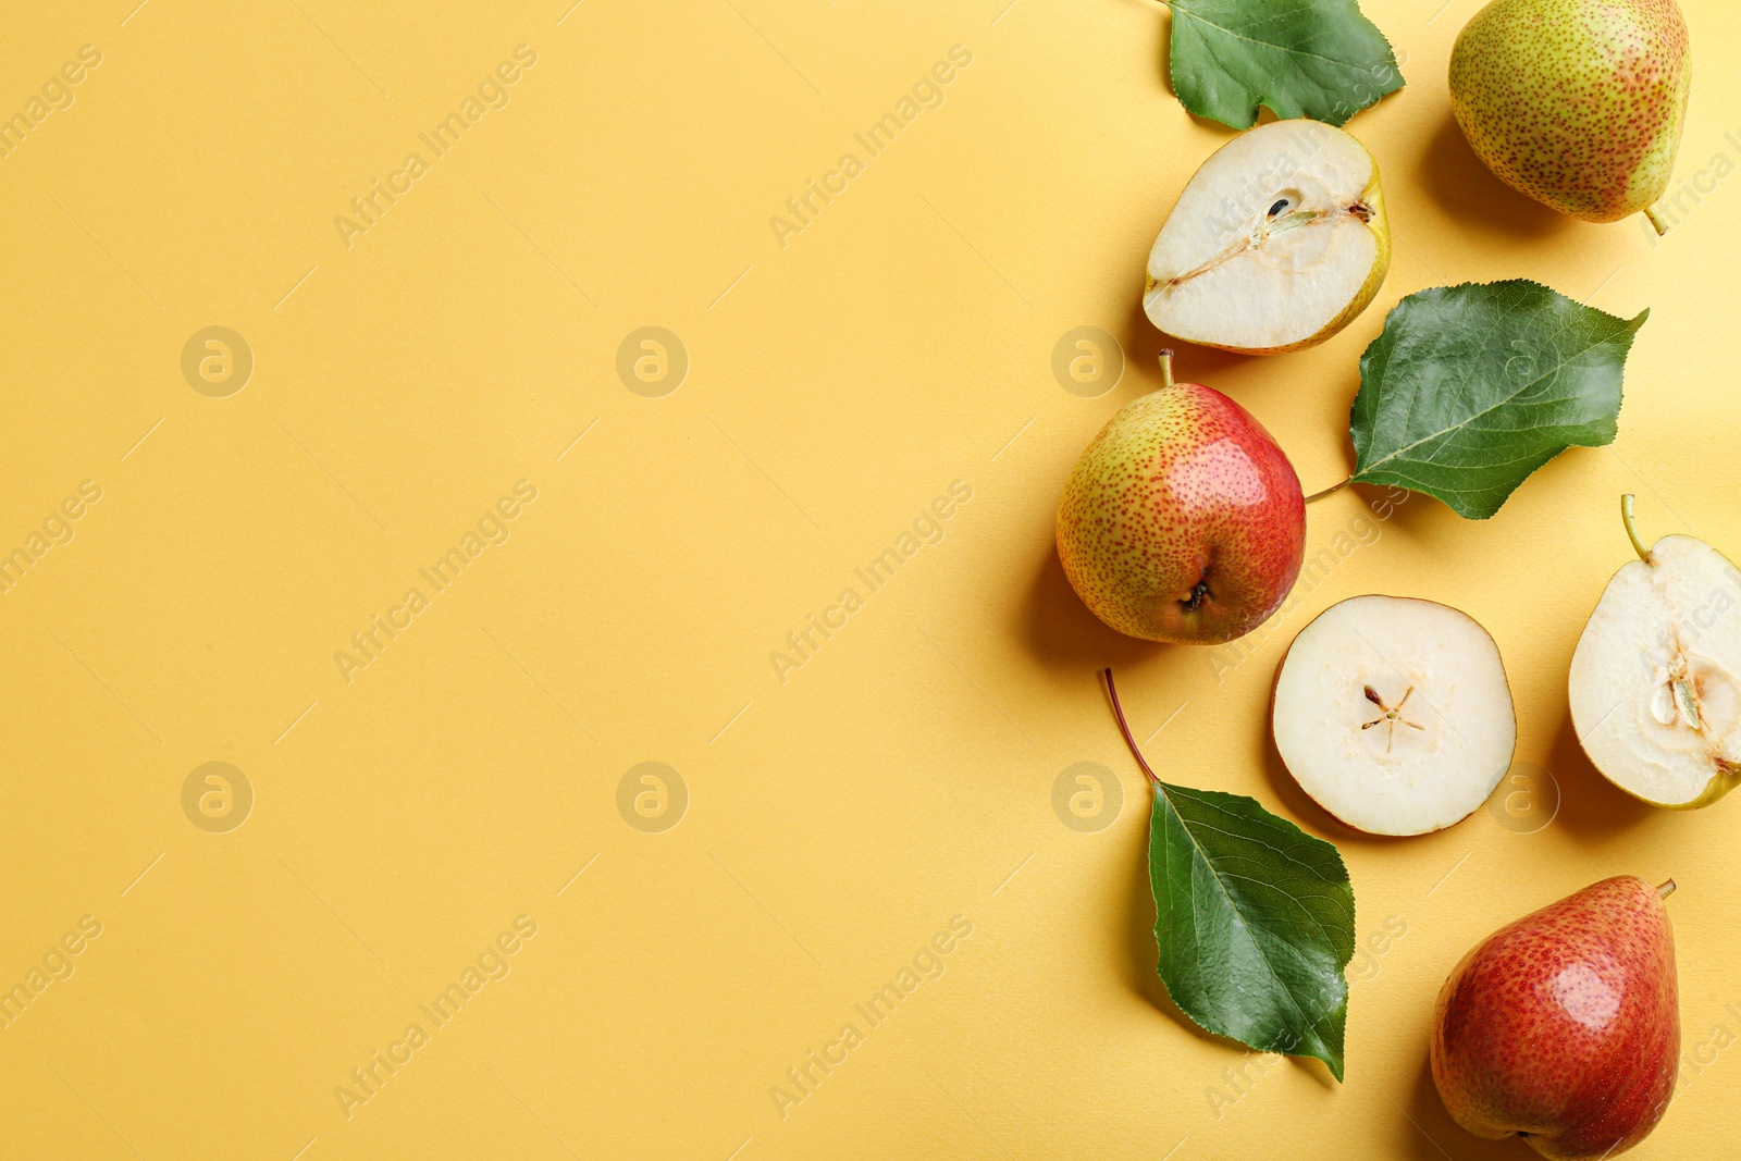
M 1485 520 L 1567 447 L 1614 442 L 1626 352 L 1649 317 L 1522 279 L 1410 294 L 1360 357 L 1354 480 Z

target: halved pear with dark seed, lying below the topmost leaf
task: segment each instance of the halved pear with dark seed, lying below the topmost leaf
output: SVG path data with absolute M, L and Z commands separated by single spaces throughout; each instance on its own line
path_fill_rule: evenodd
M 1247 355 L 1321 343 L 1391 266 L 1379 165 L 1349 134 L 1278 120 L 1219 148 L 1149 251 L 1142 308 L 1166 334 Z

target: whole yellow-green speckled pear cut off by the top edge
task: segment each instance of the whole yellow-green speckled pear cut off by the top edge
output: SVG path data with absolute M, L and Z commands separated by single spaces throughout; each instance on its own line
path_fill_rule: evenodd
M 1494 0 L 1450 52 L 1450 103 L 1509 186 L 1619 221 L 1668 188 L 1691 73 L 1675 0 Z

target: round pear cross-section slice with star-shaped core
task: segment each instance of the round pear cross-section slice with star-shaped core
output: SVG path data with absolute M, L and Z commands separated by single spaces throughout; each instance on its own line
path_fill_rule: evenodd
M 1288 773 L 1368 834 L 1466 818 L 1511 766 L 1516 715 L 1499 646 L 1436 601 L 1349 597 L 1301 630 L 1271 724 Z

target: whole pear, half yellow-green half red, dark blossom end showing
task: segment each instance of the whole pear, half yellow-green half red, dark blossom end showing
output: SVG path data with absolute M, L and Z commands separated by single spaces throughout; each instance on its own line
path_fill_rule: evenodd
M 1306 554 L 1294 465 L 1245 407 L 1200 383 L 1125 406 L 1059 503 L 1059 560 L 1121 634 L 1219 644 L 1281 607 Z

